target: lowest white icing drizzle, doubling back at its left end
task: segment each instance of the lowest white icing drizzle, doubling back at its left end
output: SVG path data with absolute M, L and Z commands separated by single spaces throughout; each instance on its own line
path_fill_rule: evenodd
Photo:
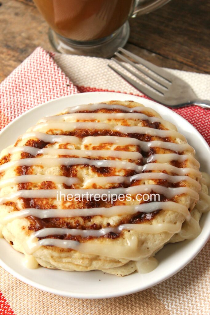
M 117 227 L 105 227 L 100 230 L 79 230 L 79 229 L 65 229 L 65 228 L 45 228 L 37 232 L 32 233 L 30 238 L 25 245 L 25 251 L 27 254 L 32 254 L 40 246 L 56 246 L 61 248 L 71 248 L 78 250 L 82 253 L 102 255 L 107 257 L 118 257 L 118 258 L 128 258 L 129 260 L 138 260 L 139 253 L 137 250 L 138 240 L 136 236 L 133 236 L 128 240 L 126 246 L 112 245 L 106 246 L 105 243 L 95 244 L 89 241 L 88 243 L 79 243 L 77 241 L 62 240 L 54 238 L 45 238 L 37 242 L 37 238 L 47 237 L 49 235 L 80 235 L 82 237 L 94 236 L 100 237 L 104 236 L 110 232 L 120 233 L 123 230 L 134 230 L 141 233 L 151 233 L 158 234 L 162 232 L 168 232 L 171 234 L 178 233 L 181 230 L 181 224 L 170 224 L 170 223 L 158 223 L 158 224 L 122 224 Z

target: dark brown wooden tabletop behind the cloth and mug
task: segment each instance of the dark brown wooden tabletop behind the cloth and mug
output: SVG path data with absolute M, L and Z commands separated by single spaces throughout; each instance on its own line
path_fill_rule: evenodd
M 168 68 L 210 73 L 210 2 L 172 0 L 130 19 L 130 51 Z M 0 2 L 0 81 L 37 47 L 52 50 L 48 25 L 32 0 Z

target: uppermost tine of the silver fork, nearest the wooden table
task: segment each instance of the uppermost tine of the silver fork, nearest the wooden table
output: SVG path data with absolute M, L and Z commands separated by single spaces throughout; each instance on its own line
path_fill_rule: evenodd
M 145 66 L 147 69 L 155 72 L 156 74 L 158 74 L 160 77 L 162 77 L 163 79 L 169 81 L 170 83 L 172 82 L 172 76 L 169 72 L 165 71 L 164 69 L 152 64 L 151 62 L 135 55 L 132 54 L 131 52 L 129 52 L 128 50 L 119 47 L 118 51 L 121 51 L 122 53 L 128 55 L 129 57 L 131 57 L 133 60 L 139 62 L 141 65 Z

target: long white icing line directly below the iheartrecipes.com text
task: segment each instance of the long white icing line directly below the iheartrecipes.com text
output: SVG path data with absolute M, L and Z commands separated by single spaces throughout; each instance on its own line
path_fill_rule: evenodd
M 137 205 L 120 205 L 113 206 L 110 208 L 87 208 L 87 209 L 23 209 L 20 211 L 14 211 L 9 213 L 0 222 L 6 224 L 13 221 L 14 219 L 23 219 L 27 216 L 34 216 L 39 219 L 46 218 L 72 218 L 77 216 L 92 216 L 92 215 L 102 215 L 107 218 L 124 215 L 124 214 L 135 214 L 137 212 L 151 213 L 156 210 L 170 210 L 181 213 L 184 215 L 186 220 L 190 220 L 190 212 L 187 207 L 182 204 L 177 204 L 172 201 L 155 201 L 151 203 L 142 203 Z

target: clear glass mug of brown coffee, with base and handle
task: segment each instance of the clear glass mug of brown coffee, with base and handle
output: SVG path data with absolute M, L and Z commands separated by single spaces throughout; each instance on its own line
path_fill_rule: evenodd
M 128 18 L 170 0 L 34 0 L 50 26 L 54 49 L 66 54 L 111 57 L 129 37 Z

